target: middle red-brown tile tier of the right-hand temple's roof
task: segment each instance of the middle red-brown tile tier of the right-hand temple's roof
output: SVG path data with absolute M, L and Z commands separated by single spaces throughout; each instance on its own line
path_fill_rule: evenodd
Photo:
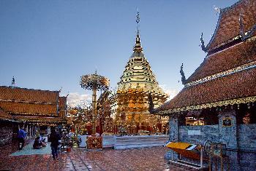
M 236 68 L 255 60 L 256 40 L 242 42 L 241 44 L 225 49 L 222 52 L 206 57 L 195 72 L 189 76 L 186 83 L 202 79 L 214 73 Z

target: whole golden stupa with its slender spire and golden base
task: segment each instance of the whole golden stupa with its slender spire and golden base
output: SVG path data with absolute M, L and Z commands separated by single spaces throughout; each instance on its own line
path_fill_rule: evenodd
M 139 23 L 139 16 L 137 16 Z M 151 95 L 154 106 L 161 106 L 168 95 L 159 87 L 156 76 L 143 54 L 140 33 L 137 31 L 132 56 L 125 66 L 121 81 L 118 82 L 116 94 L 111 97 L 116 127 L 123 127 L 127 133 L 146 131 L 162 132 L 167 120 L 148 112 L 148 96 Z M 166 122 L 165 122 L 166 121 Z

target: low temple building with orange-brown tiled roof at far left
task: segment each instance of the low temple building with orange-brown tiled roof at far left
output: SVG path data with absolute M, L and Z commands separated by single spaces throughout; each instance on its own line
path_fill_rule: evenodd
M 15 139 L 25 126 L 29 137 L 47 127 L 66 123 L 67 97 L 59 91 L 0 86 L 0 145 Z

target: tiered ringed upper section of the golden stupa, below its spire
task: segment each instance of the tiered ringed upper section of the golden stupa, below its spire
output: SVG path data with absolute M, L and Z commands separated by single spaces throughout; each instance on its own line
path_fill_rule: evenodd
M 148 106 L 148 95 L 151 94 L 154 106 L 160 106 L 165 102 L 168 95 L 159 87 L 156 76 L 151 71 L 148 60 L 144 57 L 139 35 L 136 37 L 136 44 L 133 51 L 132 56 L 125 66 L 121 81 L 118 82 L 117 93 L 123 95 L 129 94 L 129 96 L 135 94 L 138 98 L 141 98 L 142 95 L 143 99 L 140 99 L 141 103 L 144 103 L 146 106 Z M 132 97 L 124 96 L 124 99 L 128 98 L 131 99 Z M 138 101 L 138 98 L 135 98 L 135 100 Z M 132 107 L 131 104 L 129 106 Z M 138 108 L 138 104 L 136 108 Z M 148 107 L 146 110 L 148 110 Z

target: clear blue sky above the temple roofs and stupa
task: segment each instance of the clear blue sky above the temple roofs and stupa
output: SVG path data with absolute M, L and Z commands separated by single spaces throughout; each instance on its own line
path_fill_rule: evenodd
M 94 73 L 116 87 L 135 44 L 137 8 L 144 54 L 168 92 L 182 89 L 186 77 L 203 62 L 217 25 L 217 7 L 235 0 L 179 1 L 0 1 L 0 85 L 15 76 L 18 87 L 59 90 L 77 98 L 90 92 L 80 76 Z M 79 96 L 79 97 L 78 97 Z

